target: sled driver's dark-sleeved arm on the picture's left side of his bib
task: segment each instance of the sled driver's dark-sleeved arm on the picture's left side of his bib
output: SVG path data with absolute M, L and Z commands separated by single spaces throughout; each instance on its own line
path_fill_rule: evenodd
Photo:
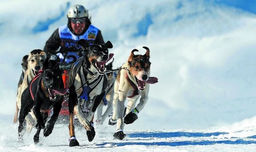
M 44 51 L 47 56 L 55 54 L 55 51 L 61 46 L 61 39 L 59 35 L 59 30 L 55 30 L 52 36 L 46 41 Z

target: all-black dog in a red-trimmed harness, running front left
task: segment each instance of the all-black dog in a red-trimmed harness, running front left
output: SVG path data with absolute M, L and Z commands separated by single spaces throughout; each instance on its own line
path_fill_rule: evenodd
M 61 111 L 63 95 L 67 92 L 61 75 L 62 71 L 56 61 L 46 58 L 43 70 L 34 77 L 29 83 L 28 88 L 22 93 L 18 128 L 20 142 L 23 142 L 24 119 L 33 106 L 33 112 L 37 118 L 37 132 L 34 136 L 34 143 L 37 144 L 39 142 L 41 129 L 44 128 L 44 136 L 49 136 L 52 133 L 54 124 Z M 48 111 L 51 108 L 53 108 L 53 115 L 45 127 Z

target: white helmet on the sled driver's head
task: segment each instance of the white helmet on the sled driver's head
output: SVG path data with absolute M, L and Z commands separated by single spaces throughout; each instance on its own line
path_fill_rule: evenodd
M 69 8 L 68 18 L 89 18 L 88 10 L 82 5 L 73 5 Z

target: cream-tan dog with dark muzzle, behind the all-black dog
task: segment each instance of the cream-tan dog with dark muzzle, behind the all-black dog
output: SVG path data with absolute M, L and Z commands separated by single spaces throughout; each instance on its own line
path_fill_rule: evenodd
M 39 70 L 43 68 L 43 62 L 46 58 L 46 53 L 43 50 L 35 49 L 31 51 L 28 55 L 28 68 L 25 71 L 24 79 L 21 84 L 21 89 L 18 90 L 16 96 L 16 113 L 14 116 L 14 123 L 17 122 L 18 113 L 21 108 L 21 94 L 28 87 L 28 83 L 39 73 Z M 33 112 L 29 112 L 30 115 L 26 117 L 26 120 L 29 124 L 28 131 L 31 131 L 34 124 L 34 120 L 36 119 Z

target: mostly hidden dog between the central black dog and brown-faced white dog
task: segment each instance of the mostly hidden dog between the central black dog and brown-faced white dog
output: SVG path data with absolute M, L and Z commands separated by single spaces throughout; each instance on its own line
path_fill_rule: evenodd
M 114 58 L 113 58 L 114 61 Z M 112 67 L 112 62 L 106 65 L 106 70 L 113 70 Z M 106 73 L 107 78 L 108 78 L 108 86 L 106 88 L 106 94 L 101 102 L 101 104 L 97 108 L 97 120 L 96 122 L 100 125 L 103 124 L 104 120 L 109 117 L 110 113 L 113 111 L 113 98 L 114 98 L 114 83 L 116 80 L 116 72 L 109 72 Z M 102 114 L 103 112 L 103 106 L 106 105 L 106 111 Z

